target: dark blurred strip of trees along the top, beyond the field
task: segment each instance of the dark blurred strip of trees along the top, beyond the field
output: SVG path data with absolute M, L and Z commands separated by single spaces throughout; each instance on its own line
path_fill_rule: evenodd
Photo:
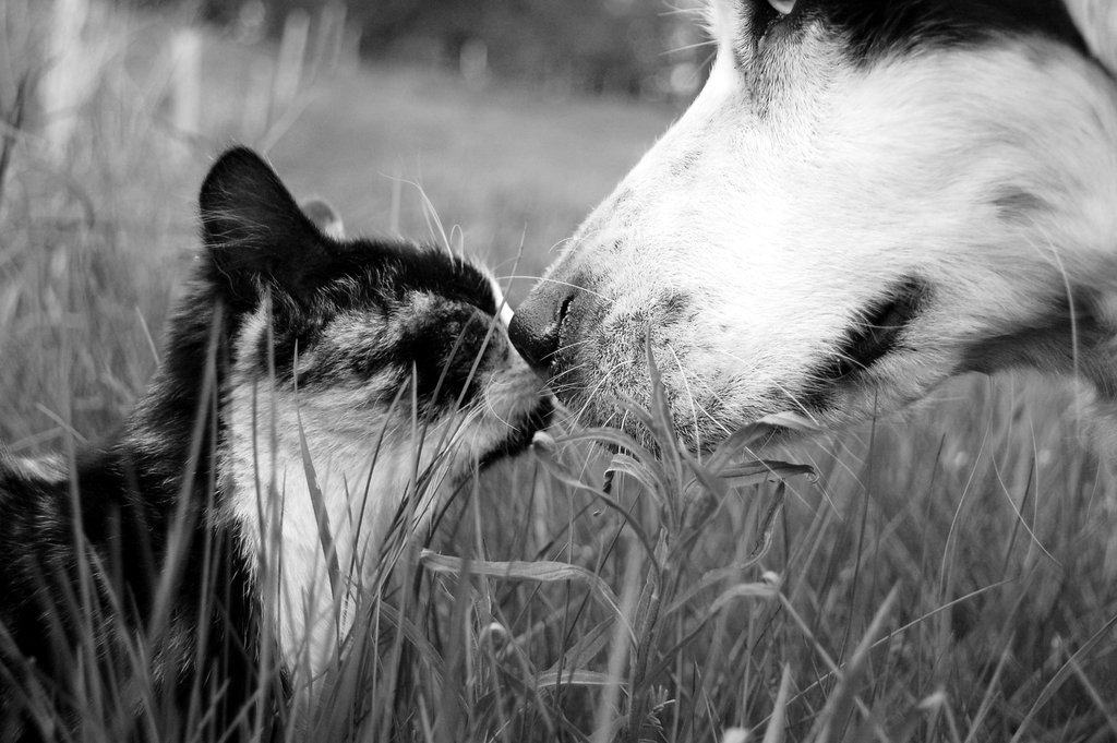
M 159 4 L 159 3 L 153 3 Z M 294 17 L 347 19 L 363 59 L 459 72 L 474 87 L 519 79 L 552 96 L 609 93 L 687 98 L 700 83 L 695 0 L 209 0 L 201 16 L 241 38 L 279 34 Z

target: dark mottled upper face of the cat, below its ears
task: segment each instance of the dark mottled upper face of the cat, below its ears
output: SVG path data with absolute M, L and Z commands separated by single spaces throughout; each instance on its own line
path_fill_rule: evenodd
M 471 385 L 478 359 L 507 347 L 499 290 L 461 256 L 355 239 L 316 257 L 297 290 L 276 287 L 242 321 L 235 355 L 244 379 L 361 389 L 366 402 L 390 401 L 413 380 L 418 399 L 445 412 L 480 389 Z

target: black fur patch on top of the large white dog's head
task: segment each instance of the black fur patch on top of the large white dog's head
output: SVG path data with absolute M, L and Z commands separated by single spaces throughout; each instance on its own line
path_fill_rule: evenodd
M 753 3 L 753 35 L 811 22 L 848 36 L 853 58 L 870 63 L 927 47 L 974 46 L 1003 36 L 1040 36 L 1089 55 L 1061 0 L 802 0 L 789 16 Z

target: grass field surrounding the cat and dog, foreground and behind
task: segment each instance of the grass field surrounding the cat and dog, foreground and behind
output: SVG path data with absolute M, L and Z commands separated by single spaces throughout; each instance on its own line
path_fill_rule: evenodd
M 351 231 L 430 238 L 420 183 L 451 239 L 524 277 L 515 303 L 674 115 L 343 69 L 247 131 L 269 53 L 211 40 L 201 135 L 172 155 L 147 64 L 164 32 L 126 28 L 65 159 L 6 130 L 16 454 L 95 439 L 134 403 L 223 144 L 268 145 Z M 446 558 L 401 565 L 410 590 L 384 599 L 394 613 L 306 740 L 1117 740 L 1117 490 L 1078 420 L 1048 380 L 967 378 L 905 419 L 773 454 L 815 478 L 714 486 L 681 455 L 637 456 L 605 495 L 609 457 L 585 447 L 503 465 L 447 512 Z

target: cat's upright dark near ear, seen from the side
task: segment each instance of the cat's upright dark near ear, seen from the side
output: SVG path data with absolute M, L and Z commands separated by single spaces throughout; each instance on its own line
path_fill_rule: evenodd
M 247 147 L 218 159 L 199 206 L 213 279 L 241 301 L 252 299 L 261 282 L 298 294 L 305 267 L 327 249 L 276 172 Z

